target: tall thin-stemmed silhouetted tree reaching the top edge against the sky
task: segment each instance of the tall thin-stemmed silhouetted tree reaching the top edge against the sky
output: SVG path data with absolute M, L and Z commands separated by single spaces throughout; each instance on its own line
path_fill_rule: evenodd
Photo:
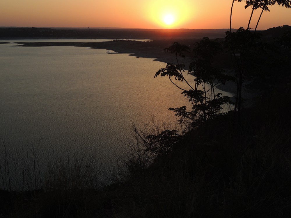
M 232 12 L 233 4 L 235 1 L 245 1 L 245 8 L 251 7 L 252 12 L 249 18 L 247 29 L 240 27 L 235 33 L 232 32 Z M 238 121 L 240 120 L 240 109 L 242 103 L 242 83 L 247 75 L 255 72 L 254 65 L 258 64 L 255 60 L 258 59 L 258 55 L 264 48 L 263 43 L 260 40 L 260 35 L 256 33 L 258 24 L 260 22 L 262 13 L 264 11 L 270 11 L 269 6 L 278 4 L 280 6 L 291 8 L 290 0 L 233 0 L 230 9 L 230 31 L 226 32 L 225 44 L 230 48 L 231 62 L 236 76 L 237 92 L 235 102 L 235 112 L 238 113 Z M 250 26 L 253 12 L 261 8 L 260 17 L 257 21 L 255 30 L 252 32 Z

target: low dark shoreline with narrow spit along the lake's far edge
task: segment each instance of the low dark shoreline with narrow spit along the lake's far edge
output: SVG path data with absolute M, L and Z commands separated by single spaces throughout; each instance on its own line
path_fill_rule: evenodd
M 173 54 L 164 51 L 164 48 L 171 45 L 175 40 L 157 40 L 152 45 L 154 41 L 142 42 L 142 41 L 127 41 L 127 40 L 115 40 L 107 42 L 2 42 L 1 44 L 19 44 L 14 47 L 43 47 L 43 46 L 76 46 L 76 47 L 87 47 L 90 49 L 106 49 L 114 52 L 108 52 L 109 55 L 113 54 L 128 54 L 129 56 L 134 56 L 137 58 L 152 58 L 154 61 L 171 63 L 175 64 L 176 60 Z M 183 41 L 183 40 L 182 40 Z M 185 41 L 185 40 L 184 40 Z M 186 40 L 189 44 L 189 40 Z M 191 40 L 197 41 L 197 39 Z M 185 44 L 185 43 L 183 43 Z M 192 43 L 194 44 L 194 43 Z M 186 56 L 185 58 L 180 58 L 179 61 L 184 63 L 186 66 L 191 61 L 191 55 Z M 186 69 L 187 70 L 187 69 Z M 259 96 L 256 90 L 248 89 L 248 85 L 253 81 L 245 81 L 244 87 L 242 89 L 242 98 L 245 99 L 244 105 L 250 107 L 252 99 Z M 231 101 L 235 102 L 235 94 L 237 85 L 231 81 L 226 82 L 224 85 L 219 84 L 216 86 L 217 89 L 233 94 Z

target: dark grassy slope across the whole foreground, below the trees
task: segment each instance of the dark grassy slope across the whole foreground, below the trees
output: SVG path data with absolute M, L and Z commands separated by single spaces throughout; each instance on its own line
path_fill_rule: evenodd
M 94 156 L 71 152 L 47 165 L 41 180 L 31 149 L 32 160 L 20 160 L 32 171 L 18 179 L 30 181 L 30 191 L 10 192 L 16 158 L 3 142 L 1 179 L 9 192 L 1 190 L 1 217 L 289 217 L 291 120 L 282 111 L 290 99 L 276 102 L 279 96 L 269 111 L 263 103 L 244 110 L 240 126 L 231 112 L 205 123 L 164 154 L 148 149 L 153 129 L 135 128 L 107 174 L 96 171 Z

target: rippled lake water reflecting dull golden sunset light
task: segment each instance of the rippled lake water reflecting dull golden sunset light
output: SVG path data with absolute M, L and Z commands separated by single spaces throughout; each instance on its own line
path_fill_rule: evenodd
M 123 152 L 121 141 L 132 137 L 132 124 L 143 127 L 152 115 L 175 120 L 168 108 L 189 105 L 167 78 L 154 78 L 166 64 L 151 58 L 15 45 L 0 44 L 0 138 L 16 157 L 41 138 L 40 156 L 73 147 L 96 152 L 100 165 L 106 164 Z

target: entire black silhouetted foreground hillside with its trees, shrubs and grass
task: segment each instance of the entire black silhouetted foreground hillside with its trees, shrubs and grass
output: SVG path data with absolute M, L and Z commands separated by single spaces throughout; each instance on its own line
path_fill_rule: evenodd
M 291 5 L 246 1 L 246 7 L 263 12 L 269 10 L 267 3 Z M 290 31 L 262 40 L 249 26 L 235 32 L 230 28 L 220 41 L 204 37 L 191 53 L 192 85 L 181 62 L 191 49 L 174 42 L 165 50 L 176 63 L 168 63 L 155 77 L 167 77 L 189 99 L 191 109 L 170 108 L 178 128 L 155 120 L 144 129 L 134 126 L 134 140 L 125 143 L 127 151 L 107 173 L 95 170 L 94 156 L 75 154 L 48 164 L 41 178 L 37 146 L 31 144 L 32 171 L 28 173 L 30 165 L 22 158 L 23 178 L 13 181 L 22 185 L 13 191 L 15 171 L 8 169 L 8 161 L 15 159 L 3 141 L 0 216 L 290 217 L 290 47 Z M 246 79 L 260 93 L 250 108 L 242 97 Z M 234 102 L 215 89 L 226 81 L 236 83 Z M 229 104 L 234 110 L 222 113 L 221 107 Z

